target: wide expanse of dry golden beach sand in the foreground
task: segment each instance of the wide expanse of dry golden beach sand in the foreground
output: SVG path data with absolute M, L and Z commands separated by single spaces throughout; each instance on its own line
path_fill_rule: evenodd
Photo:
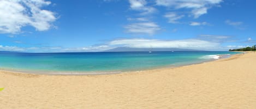
M 0 108 L 256 108 L 256 53 L 110 75 L 0 71 Z

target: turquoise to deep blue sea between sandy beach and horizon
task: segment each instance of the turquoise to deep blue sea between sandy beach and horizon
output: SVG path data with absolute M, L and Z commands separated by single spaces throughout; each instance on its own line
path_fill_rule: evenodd
M 176 67 L 218 59 L 235 52 L 3 53 L 0 68 L 44 73 L 122 72 Z

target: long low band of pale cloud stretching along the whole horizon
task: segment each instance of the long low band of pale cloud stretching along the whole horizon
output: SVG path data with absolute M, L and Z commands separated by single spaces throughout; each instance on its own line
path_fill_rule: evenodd
M 205 37 L 215 37 L 215 39 L 229 39 L 229 36 L 202 35 Z M 130 48 L 183 48 L 196 50 L 228 50 L 243 46 L 221 46 L 219 41 L 203 40 L 203 39 L 186 39 L 186 40 L 157 40 L 157 39 L 120 39 L 112 40 L 100 46 L 89 47 L 16 47 L 16 46 L 1 46 L 0 51 L 17 51 L 17 52 L 103 52 L 116 47 Z

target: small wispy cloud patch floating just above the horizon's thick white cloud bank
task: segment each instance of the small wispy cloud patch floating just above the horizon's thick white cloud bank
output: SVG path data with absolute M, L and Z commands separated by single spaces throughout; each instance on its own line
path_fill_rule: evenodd
M 153 35 L 158 30 L 160 30 L 160 27 L 154 22 L 132 23 L 132 24 L 126 25 L 124 28 L 126 28 L 127 33 L 149 34 L 149 35 Z

